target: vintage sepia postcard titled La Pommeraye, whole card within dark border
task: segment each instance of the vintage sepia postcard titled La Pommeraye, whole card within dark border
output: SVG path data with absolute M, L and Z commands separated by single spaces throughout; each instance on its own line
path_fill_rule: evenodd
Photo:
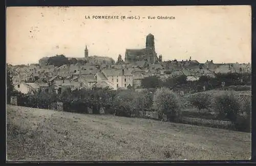
M 6 17 L 7 161 L 250 159 L 250 6 Z

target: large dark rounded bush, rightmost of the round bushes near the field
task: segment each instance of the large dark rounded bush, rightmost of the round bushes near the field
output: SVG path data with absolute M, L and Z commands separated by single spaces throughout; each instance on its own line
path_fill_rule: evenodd
M 226 91 L 222 94 L 217 94 L 214 97 L 214 100 L 217 117 L 221 119 L 228 119 L 231 122 L 236 122 L 240 110 L 238 96 L 232 91 Z

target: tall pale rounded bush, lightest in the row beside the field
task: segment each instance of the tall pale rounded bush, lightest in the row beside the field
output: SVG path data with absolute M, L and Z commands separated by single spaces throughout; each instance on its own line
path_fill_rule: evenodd
M 166 115 L 168 120 L 175 121 L 180 116 L 179 97 L 167 88 L 157 89 L 153 98 L 153 107 L 159 113 L 160 118 Z

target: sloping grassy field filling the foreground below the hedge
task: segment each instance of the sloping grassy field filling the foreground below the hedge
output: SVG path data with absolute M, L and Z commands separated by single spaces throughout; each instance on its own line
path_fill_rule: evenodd
M 7 105 L 8 161 L 249 159 L 251 134 Z

